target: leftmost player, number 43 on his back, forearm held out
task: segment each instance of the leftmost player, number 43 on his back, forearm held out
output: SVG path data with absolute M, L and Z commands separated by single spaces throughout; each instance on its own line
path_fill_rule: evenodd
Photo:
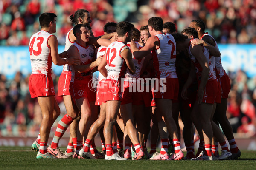
M 77 59 L 61 59 L 67 52 L 58 54 L 58 40 L 52 35 L 56 32 L 56 14 L 43 13 L 39 17 L 41 31 L 30 38 L 29 52 L 32 74 L 29 77 L 29 91 L 32 98 L 37 97 L 42 111 L 40 126 L 40 147 L 37 158 L 53 158 L 47 152 L 47 141 L 53 122 L 60 114 L 60 108 L 54 96 L 51 77 L 52 62 L 55 65 L 74 64 Z

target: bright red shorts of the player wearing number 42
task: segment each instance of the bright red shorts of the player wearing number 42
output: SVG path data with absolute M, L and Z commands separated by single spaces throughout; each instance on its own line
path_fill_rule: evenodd
M 106 79 L 104 87 L 104 100 L 119 100 L 122 101 L 121 81 Z

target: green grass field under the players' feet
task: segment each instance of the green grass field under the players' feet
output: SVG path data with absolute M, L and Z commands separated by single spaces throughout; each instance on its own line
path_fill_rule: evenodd
M 227 161 L 36 159 L 36 154 L 30 147 L 0 147 L 0 170 L 256 170 L 256 151 Z

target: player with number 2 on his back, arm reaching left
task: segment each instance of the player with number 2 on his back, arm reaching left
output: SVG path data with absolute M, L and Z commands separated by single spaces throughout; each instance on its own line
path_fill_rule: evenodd
M 177 127 L 174 119 L 172 118 L 172 100 L 177 100 L 179 91 L 177 74 L 175 72 L 176 43 L 171 34 L 163 34 L 162 18 L 150 18 L 148 20 L 148 28 L 151 37 L 147 40 L 145 46 L 141 50 L 138 50 L 137 48 L 131 48 L 131 50 L 134 51 L 134 57 L 137 59 L 146 56 L 151 51 L 154 55 L 153 65 L 157 74 L 157 80 L 160 82 L 154 84 L 154 88 L 158 87 L 156 92 L 153 94 L 157 104 L 157 112 L 163 114 L 167 129 L 175 146 L 175 154 L 173 154 L 171 159 L 183 159 L 184 156 L 180 149 Z M 165 90 L 164 85 L 166 87 Z M 161 123 L 161 121 L 158 123 Z M 159 128 L 159 130 L 161 129 Z M 169 160 L 170 158 L 167 150 L 168 136 L 160 133 L 160 138 L 162 142 L 162 149 L 160 154 L 154 157 L 154 159 Z

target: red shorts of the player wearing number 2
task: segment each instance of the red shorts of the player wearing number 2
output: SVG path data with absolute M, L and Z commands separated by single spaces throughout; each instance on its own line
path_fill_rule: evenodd
M 165 86 L 160 85 L 160 83 L 156 84 L 156 82 L 157 81 L 154 82 L 154 87 L 153 87 L 154 98 L 178 100 L 178 95 L 179 95 L 178 78 L 166 79 L 166 82 L 163 82 L 163 85 Z M 159 82 L 161 82 L 161 79 L 159 80 Z

